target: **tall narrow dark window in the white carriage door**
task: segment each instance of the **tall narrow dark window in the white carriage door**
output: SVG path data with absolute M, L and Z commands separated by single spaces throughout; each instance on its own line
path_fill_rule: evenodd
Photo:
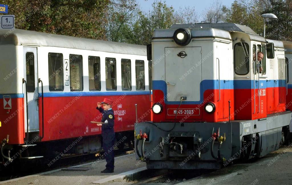
M 27 92 L 34 92 L 34 53 L 27 52 L 25 55 L 26 60 L 26 82 Z

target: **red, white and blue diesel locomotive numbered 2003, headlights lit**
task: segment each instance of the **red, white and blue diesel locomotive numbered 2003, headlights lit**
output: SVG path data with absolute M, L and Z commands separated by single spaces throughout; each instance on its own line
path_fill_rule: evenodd
M 233 23 L 156 29 L 153 122 L 135 124 L 137 159 L 147 168 L 218 169 L 277 150 L 291 120 L 291 48 Z

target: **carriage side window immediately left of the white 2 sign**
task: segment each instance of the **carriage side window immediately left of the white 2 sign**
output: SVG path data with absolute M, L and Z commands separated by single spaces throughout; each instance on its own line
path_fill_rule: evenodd
M 49 53 L 48 54 L 49 67 L 49 91 L 63 91 L 63 54 Z

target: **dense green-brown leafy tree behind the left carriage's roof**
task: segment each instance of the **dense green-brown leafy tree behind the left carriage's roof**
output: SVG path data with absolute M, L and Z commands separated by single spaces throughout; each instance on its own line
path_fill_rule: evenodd
M 2 0 L 15 15 L 15 28 L 75 37 L 107 39 L 112 6 L 133 6 L 128 0 Z

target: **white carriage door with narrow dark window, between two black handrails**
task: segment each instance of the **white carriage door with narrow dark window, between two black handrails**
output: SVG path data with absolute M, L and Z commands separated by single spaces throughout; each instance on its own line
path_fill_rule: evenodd
M 24 115 L 25 115 L 25 132 L 39 131 L 39 105 L 38 105 L 38 71 L 37 71 L 37 48 L 36 47 L 23 47 L 23 61 L 24 63 L 24 79 L 27 82 L 27 89 L 23 84 L 24 94 Z M 27 107 L 26 109 L 26 93 L 27 91 Z M 26 118 L 26 111 L 28 111 L 28 119 Z M 29 138 L 32 140 L 33 138 Z

